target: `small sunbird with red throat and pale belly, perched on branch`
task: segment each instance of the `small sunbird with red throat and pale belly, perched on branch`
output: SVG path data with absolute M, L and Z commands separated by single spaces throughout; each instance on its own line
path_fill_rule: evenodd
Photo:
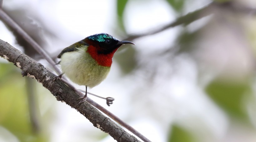
M 90 35 L 66 48 L 57 56 L 62 74 L 73 83 L 86 87 L 84 97 L 78 104 L 86 101 L 87 87 L 93 88 L 106 79 L 110 72 L 113 55 L 121 45 L 133 44 L 131 41 L 118 40 L 112 35 L 100 33 Z

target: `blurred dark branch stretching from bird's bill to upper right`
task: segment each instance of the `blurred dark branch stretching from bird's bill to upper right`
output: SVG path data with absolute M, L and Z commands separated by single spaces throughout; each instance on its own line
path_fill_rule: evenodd
M 159 29 L 153 30 L 145 33 L 140 33 L 140 34 L 132 34 L 128 35 L 128 37 L 124 40 L 134 40 L 140 37 L 148 36 L 148 35 L 154 35 L 157 34 L 161 31 L 167 30 L 169 28 L 179 26 L 179 25 L 188 25 L 198 19 L 201 19 L 203 17 L 209 16 L 211 14 L 214 14 L 214 11 L 212 10 L 213 8 L 224 8 L 228 9 L 233 12 L 240 12 L 240 13 L 245 13 L 245 14 L 256 14 L 256 9 L 255 8 L 250 8 L 250 7 L 244 7 L 239 4 L 237 4 L 234 1 L 230 2 L 223 2 L 223 3 L 218 3 L 218 2 L 211 2 L 207 6 L 198 9 L 194 12 L 190 12 L 184 16 L 180 16 L 176 19 L 176 21 L 173 21 L 165 26 L 160 27 Z

